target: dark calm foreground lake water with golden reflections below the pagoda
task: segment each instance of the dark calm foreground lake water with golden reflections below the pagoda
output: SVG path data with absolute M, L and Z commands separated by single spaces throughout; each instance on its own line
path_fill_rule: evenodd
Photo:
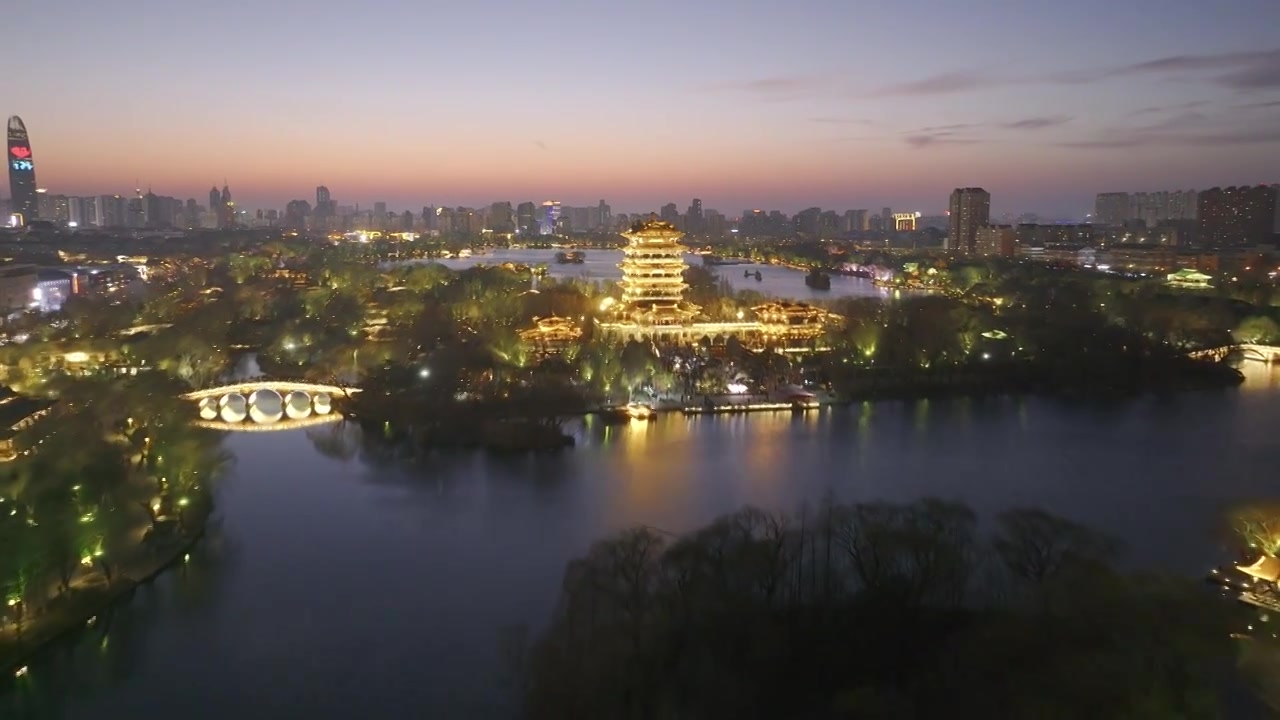
M 588 424 L 557 456 L 439 456 L 412 473 L 343 425 L 228 436 L 219 521 L 183 569 L 0 691 L 0 717 L 511 717 L 502 657 L 564 564 L 637 524 L 746 503 L 960 498 L 1110 530 L 1198 574 L 1234 501 L 1280 493 L 1280 368 L 1240 389 L 1098 406 L 881 402 L 806 416 Z

